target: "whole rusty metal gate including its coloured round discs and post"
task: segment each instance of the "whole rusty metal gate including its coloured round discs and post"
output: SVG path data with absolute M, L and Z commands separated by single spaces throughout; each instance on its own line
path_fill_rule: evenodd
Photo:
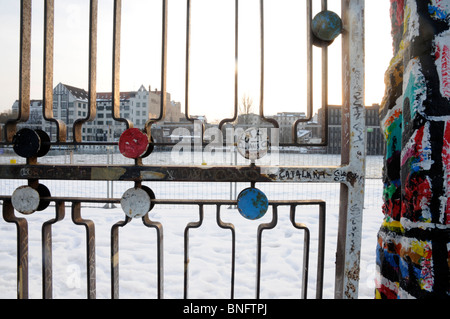
M 195 1 L 192 1 L 195 2 Z M 116 223 L 111 229 L 111 296 L 119 297 L 118 280 L 118 238 L 119 228 L 126 226 L 132 218 L 142 218 L 146 227 L 155 228 L 157 231 L 157 256 L 158 256 L 158 297 L 163 298 L 164 264 L 163 264 L 163 225 L 151 221 L 148 212 L 159 205 L 192 205 L 198 208 L 199 220 L 189 223 L 184 235 L 184 297 L 188 297 L 189 286 L 189 231 L 202 225 L 204 208 L 215 207 L 217 212 L 217 224 L 221 228 L 228 229 L 232 233 L 232 269 L 230 297 L 234 297 L 235 278 L 235 236 L 234 226 L 221 220 L 221 211 L 224 207 L 237 205 L 244 217 L 258 219 L 258 214 L 264 214 L 271 207 L 273 219 L 271 223 L 260 224 L 258 227 L 257 243 L 257 288 L 256 297 L 260 296 L 260 270 L 261 270 L 261 234 L 264 230 L 271 229 L 277 224 L 278 208 L 289 207 L 290 220 L 297 229 L 304 230 L 305 247 L 309 247 L 309 230 L 306 225 L 295 222 L 295 214 L 299 207 L 304 205 L 316 205 L 319 207 L 319 257 L 318 280 L 316 297 L 321 298 L 323 289 L 323 259 L 324 259 L 324 220 L 326 215 L 326 203 L 321 200 L 267 200 L 265 194 L 257 186 L 258 183 L 337 183 L 340 184 L 340 212 L 338 225 L 338 243 L 336 250 L 336 298 L 356 298 L 358 296 L 359 281 L 359 256 L 361 243 L 361 224 L 364 201 L 364 172 L 365 172 L 365 122 L 364 122 L 364 0 L 342 0 L 342 13 L 340 19 L 342 25 L 332 24 L 336 19 L 327 11 L 327 1 L 322 0 L 322 12 L 325 14 L 322 21 L 324 25 L 317 23 L 320 17 L 312 16 L 312 0 L 305 2 L 307 6 L 307 61 L 308 74 L 308 114 L 306 118 L 298 120 L 292 127 L 292 143 L 279 143 L 276 134 L 268 136 L 263 130 L 251 128 L 245 131 L 240 140 L 233 139 L 232 147 L 238 148 L 241 155 L 248 159 L 248 165 L 145 165 L 143 158 L 150 155 L 155 148 L 161 146 L 173 146 L 171 143 L 154 142 L 151 136 L 153 125 L 163 121 L 166 114 L 166 71 L 167 71 L 167 27 L 168 27 L 168 0 L 162 0 L 162 55 L 161 55 L 161 102 L 160 114 L 157 118 L 150 118 L 145 124 L 145 129 L 133 128 L 133 123 L 120 115 L 120 39 L 121 39 L 121 7 L 122 1 L 114 1 L 114 32 L 113 32 L 113 63 L 112 63 L 112 108 L 111 118 L 123 123 L 126 129 L 116 142 L 84 141 L 83 128 L 96 118 L 96 65 L 97 65 L 97 0 L 90 0 L 90 38 L 89 38 L 89 89 L 87 97 L 87 112 L 84 117 L 78 118 L 72 125 L 65 123 L 63 119 L 53 114 L 53 42 L 54 42 L 54 1 L 45 1 L 45 38 L 44 38 L 44 88 L 42 114 L 46 122 L 56 125 L 56 140 L 51 140 L 42 130 L 23 127 L 30 117 L 30 59 L 31 59 L 31 0 L 21 1 L 20 19 L 20 88 L 19 106 L 17 117 L 1 125 L 0 146 L 14 149 L 14 152 L 26 158 L 25 164 L 0 165 L 0 178 L 2 180 L 24 180 L 27 184 L 18 187 L 12 194 L 0 194 L 3 203 L 3 219 L 9 223 L 15 223 L 17 227 L 17 296 L 28 297 L 28 224 L 24 217 L 16 216 L 16 211 L 22 214 L 30 214 L 43 210 L 50 203 L 56 207 L 56 217 L 42 226 L 42 253 L 43 253 L 43 297 L 52 297 L 52 225 L 62 220 L 67 207 L 71 207 L 72 220 L 77 225 L 86 228 L 86 260 L 87 260 L 87 290 L 88 297 L 96 297 L 96 267 L 95 267 L 95 225 L 92 221 L 81 217 L 82 203 L 120 204 L 125 212 L 125 219 Z M 235 0 L 235 105 L 234 116 L 223 119 L 219 129 L 223 130 L 227 123 L 234 122 L 238 117 L 238 8 L 239 1 Z M 190 25 L 191 25 L 191 1 L 187 0 L 186 15 L 186 119 L 196 124 L 189 112 L 189 75 L 190 70 Z M 327 15 L 328 14 L 328 15 Z M 278 128 L 279 123 L 268 118 L 264 112 L 264 0 L 260 1 L 260 34 L 256 35 L 261 40 L 261 86 L 259 116 L 264 123 L 271 128 Z M 316 25 L 314 25 L 316 23 Z M 320 34 L 319 31 L 326 31 Z M 332 31 L 338 31 L 331 35 Z M 276 152 L 277 146 L 324 146 L 328 139 L 327 106 L 328 106 L 328 52 L 327 47 L 337 35 L 342 36 L 342 155 L 341 165 L 322 166 L 285 166 L 285 165 L 259 165 L 258 160 L 266 153 Z M 313 46 L 322 50 L 322 107 L 325 110 L 322 141 L 320 143 L 304 144 L 297 137 L 297 126 L 301 122 L 311 120 L 313 113 Z M 68 134 L 68 130 L 72 134 Z M 276 130 L 275 130 L 276 131 Z M 195 144 L 200 150 L 205 146 L 205 128 L 200 123 L 200 142 Z M 68 139 L 67 136 L 72 136 Z M 229 141 L 228 141 L 229 143 Z M 222 143 L 222 146 L 230 144 Z M 270 145 L 270 146 L 269 146 Z M 81 147 L 81 146 L 118 146 L 123 156 L 132 159 L 133 164 L 107 164 L 107 165 L 66 165 L 64 163 L 42 164 L 40 158 L 45 157 L 53 148 Z M 219 145 L 220 146 L 220 145 Z M 130 189 L 121 198 L 74 198 L 54 197 L 44 185 L 46 180 L 86 180 L 86 181 L 124 181 L 130 183 Z M 161 181 L 191 182 L 191 183 L 217 183 L 239 182 L 247 183 L 250 187 L 239 194 L 237 199 L 230 200 L 203 200 L 203 199 L 157 199 L 151 189 L 144 186 L 143 182 Z M 256 202 L 256 204 L 255 204 Z M 250 204 L 249 204 L 250 203 Z M 69 205 L 70 204 L 70 205 Z M 302 271 L 307 277 L 308 250 L 304 253 L 304 266 Z M 302 287 L 302 297 L 306 298 L 306 283 Z

